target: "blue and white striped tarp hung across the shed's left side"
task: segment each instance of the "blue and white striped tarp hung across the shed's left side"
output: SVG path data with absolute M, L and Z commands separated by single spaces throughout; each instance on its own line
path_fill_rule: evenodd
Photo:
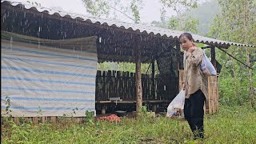
M 2 113 L 9 106 L 7 99 L 14 117 L 82 117 L 86 110 L 95 112 L 98 58 L 96 38 L 90 39 L 94 44 L 83 50 L 1 39 Z

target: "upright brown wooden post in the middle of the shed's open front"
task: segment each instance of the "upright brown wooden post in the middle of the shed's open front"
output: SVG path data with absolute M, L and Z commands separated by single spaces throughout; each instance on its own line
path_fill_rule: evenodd
M 142 71 L 141 71 L 141 50 L 139 46 L 135 48 L 135 60 L 136 60 L 136 71 L 135 71 L 135 94 L 136 94 L 136 111 L 137 113 L 142 107 Z

